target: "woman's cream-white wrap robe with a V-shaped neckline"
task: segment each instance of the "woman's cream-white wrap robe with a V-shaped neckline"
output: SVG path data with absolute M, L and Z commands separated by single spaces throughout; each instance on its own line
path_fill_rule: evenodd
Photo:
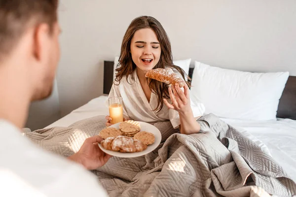
M 116 85 L 113 83 L 109 93 L 109 98 L 122 98 L 123 116 L 126 119 L 147 123 L 170 120 L 172 126 L 175 129 L 178 128 L 180 125 L 179 113 L 174 109 L 169 109 L 165 104 L 163 104 L 159 112 L 157 112 L 157 110 L 153 111 L 157 107 L 157 95 L 152 92 L 150 102 L 148 102 L 140 84 L 137 69 L 135 69 L 132 75 L 135 80 L 132 79 L 131 75 L 128 76 L 128 81 L 126 80 L 126 76 L 123 76 L 119 85 L 117 85 L 118 82 L 116 81 Z M 170 102 L 171 100 L 168 99 L 168 101 Z M 191 99 L 190 103 L 195 118 L 203 115 L 205 107 L 202 103 L 193 103 Z M 108 101 L 106 104 L 108 106 Z

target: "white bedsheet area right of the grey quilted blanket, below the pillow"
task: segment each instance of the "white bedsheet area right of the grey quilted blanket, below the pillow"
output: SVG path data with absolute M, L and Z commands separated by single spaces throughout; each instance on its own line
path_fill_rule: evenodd
M 296 120 L 281 118 L 277 121 L 222 120 L 235 128 L 249 131 L 261 140 L 275 161 L 296 181 Z

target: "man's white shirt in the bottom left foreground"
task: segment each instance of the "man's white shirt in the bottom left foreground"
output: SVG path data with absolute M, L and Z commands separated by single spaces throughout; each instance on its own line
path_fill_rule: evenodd
M 0 134 L 1 197 L 107 196 L 92 173 L 43 151 L 1 119 Z

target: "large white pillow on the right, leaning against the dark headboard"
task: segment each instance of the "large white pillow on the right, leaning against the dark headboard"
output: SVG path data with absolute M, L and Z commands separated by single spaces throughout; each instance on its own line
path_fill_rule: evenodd
M 195 62 L 192 98 L 205 114 L 241 120 L 276 120 L 289 72 L 252 73 Z

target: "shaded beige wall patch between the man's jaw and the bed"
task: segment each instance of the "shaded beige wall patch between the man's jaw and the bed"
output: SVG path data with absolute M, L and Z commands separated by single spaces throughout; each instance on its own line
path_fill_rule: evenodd
M 42 129 L 60 117 L 59 94 L 55 80 L 52 95 L 48 99 L 32 102 L 26 127 L 32 131 Z

